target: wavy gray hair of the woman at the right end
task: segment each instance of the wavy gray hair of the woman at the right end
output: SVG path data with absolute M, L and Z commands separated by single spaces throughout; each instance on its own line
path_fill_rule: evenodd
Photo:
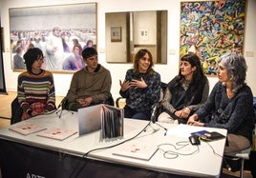
M 232 81 L 231 90 L 237 92 L 238 89 L 245 85 L 247 65 L 245 58 L 241 54 L 237 53 L 225 53 L 220 58 L 220 62 L 223 62 L 224 68 L 227 69 L 227 75 Z

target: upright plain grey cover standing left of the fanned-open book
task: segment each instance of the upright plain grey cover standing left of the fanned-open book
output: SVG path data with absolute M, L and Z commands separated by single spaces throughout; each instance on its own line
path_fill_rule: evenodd
M 102 106 L 78 109 L 78 135 L 101 129 Z

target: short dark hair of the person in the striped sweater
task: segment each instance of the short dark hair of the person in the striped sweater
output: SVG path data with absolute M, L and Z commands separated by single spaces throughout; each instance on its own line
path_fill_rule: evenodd
M 26 67 L 29 72 L 32 72 L 32 64 L 34 61 L 38 60 L 40 57 L 43 57 L 43 52 L 38 48 L 28 49 L 27 52 L 23 55 Z

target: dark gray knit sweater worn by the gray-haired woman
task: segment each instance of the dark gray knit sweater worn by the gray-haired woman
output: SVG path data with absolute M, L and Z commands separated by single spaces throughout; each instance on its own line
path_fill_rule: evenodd
M 211 115 L 204 123 L 205 127 L 227 129 L 228 133 L 243 135 L 251 141 L 254 112 L 253 95 L 248 86 L 239 89 L 235 96 L 229 99 L 225 86 L 218 82 L 203 107 L 196 113 L 200 119 Z

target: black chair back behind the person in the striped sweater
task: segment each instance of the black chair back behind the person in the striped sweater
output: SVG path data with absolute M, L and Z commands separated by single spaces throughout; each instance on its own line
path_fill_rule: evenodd
M 21 121 L 22 108 L 19 105 L 18 97 L 11 102 L 11 125 Z

